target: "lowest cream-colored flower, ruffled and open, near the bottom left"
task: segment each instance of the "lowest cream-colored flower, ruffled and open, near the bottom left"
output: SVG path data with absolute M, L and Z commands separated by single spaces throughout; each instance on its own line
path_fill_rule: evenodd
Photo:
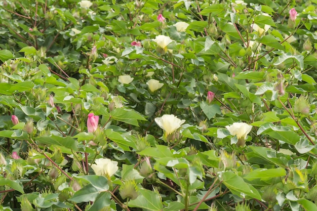
M 118 171 L 118 162 L 112 161 L 108 158 L 99 158 L 95 160 L 96 164 L 92 164 L 91 167 L 96 175 L 111 177 L 116 171 Z

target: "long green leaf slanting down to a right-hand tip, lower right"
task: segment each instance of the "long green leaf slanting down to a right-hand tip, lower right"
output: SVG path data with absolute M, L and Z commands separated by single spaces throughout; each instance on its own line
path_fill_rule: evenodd
M 233 172 L 225 172 L 219 175 L 223 184 L 235 195 L 241 198 L 261 200 L 261 195 L 252 185 L 246 183 L 241 177 Z

